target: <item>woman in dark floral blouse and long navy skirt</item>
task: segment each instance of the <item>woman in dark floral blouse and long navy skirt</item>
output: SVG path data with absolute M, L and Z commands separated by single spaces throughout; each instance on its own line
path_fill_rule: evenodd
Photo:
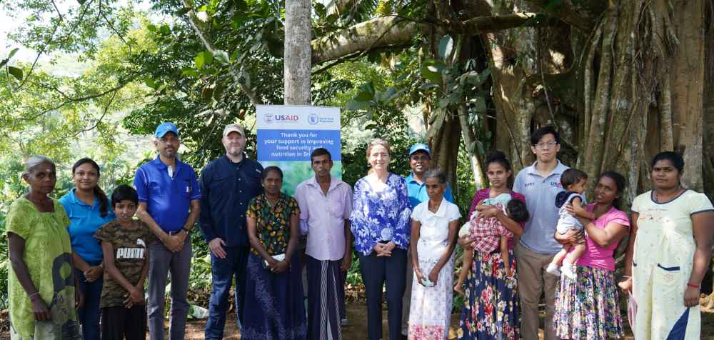
M 248 207 L 248 256 L 245 309 L 241 339 L 306 339 L 300 261 L 295 254 L 300 209 L 281 193 L 283 171 L 263 170 L 265 193 Z

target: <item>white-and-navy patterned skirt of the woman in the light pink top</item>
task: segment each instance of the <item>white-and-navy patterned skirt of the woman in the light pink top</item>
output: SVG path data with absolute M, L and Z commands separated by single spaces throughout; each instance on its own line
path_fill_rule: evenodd
M 577 266 L 578 279 L 561 279 L 553 329 L 562 339 L 617 339 L 624 335 L 615 275 Z

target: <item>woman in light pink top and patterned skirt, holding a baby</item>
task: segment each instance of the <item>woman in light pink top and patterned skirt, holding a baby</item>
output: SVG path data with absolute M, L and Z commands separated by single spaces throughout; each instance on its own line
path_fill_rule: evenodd
M 593 219 L 578 217 L 585 226 L 588 250 L 578 259 L 577 279 L 560 280 L 553 316 L 553 329 L 560 339 L 617 339 L 624 335 L 613 258 L 630 226 L 627 214 L 620 211 L 623 189 L 622 175 L 613 171 L 600 174 L 595 203 L 586 208 Z M 555 233 L 555 239 L 575 241 L 578 234 L 579 231 Z

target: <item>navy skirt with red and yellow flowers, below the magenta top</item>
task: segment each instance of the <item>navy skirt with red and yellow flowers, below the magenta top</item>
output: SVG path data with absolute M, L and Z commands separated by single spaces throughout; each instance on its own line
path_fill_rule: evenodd
M 516 256 L 508 254 L 515 272 Z M 520 313 L 516 275 L 506 275 L 501 252 L 474 251 L 458 339 L 521 339 Z

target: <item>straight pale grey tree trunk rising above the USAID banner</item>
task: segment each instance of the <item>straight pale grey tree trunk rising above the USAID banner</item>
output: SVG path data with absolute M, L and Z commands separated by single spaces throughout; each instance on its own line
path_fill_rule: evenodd
M 285 104 L 310 104 L 311 4 L 309 0 L 285 2 Z

